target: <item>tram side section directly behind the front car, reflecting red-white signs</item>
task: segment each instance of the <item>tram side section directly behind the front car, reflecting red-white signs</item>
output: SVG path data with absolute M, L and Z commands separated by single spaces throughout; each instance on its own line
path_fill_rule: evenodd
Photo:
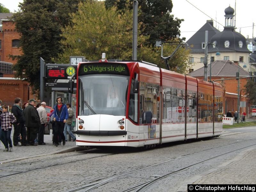
M 162 71 L 162 143 L 185 140 L 185 76 Z

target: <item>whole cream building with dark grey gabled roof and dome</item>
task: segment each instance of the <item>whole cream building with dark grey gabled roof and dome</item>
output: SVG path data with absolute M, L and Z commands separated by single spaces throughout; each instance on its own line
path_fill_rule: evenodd
M 213 27 L 213 20 L 207 20 L 186 43 L 191 50 L 189 61 L 192 64 L 191 71 L 204 67 L 205 48 L 208 50 L 208 65 L 215 60 L 233 60 L 242 63 L 250 63 L 250 50 L 247 48 L 246 38 L 235 31 L 234 9 L 228 6 L 225 9 L 225 26 L 223 31 Z M 208 42 L 205 43 L 205 31 L 208 31 Z M 220 55 L 216 55 L 220 52 Z M 248 65 L 247 72 L 255 71 Z

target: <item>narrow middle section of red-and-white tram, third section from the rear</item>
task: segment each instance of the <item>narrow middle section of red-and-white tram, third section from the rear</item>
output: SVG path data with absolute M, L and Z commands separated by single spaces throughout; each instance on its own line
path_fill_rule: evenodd
M 195 77 L 186 76 L 186 139 L 197 137 L 197 80 Z

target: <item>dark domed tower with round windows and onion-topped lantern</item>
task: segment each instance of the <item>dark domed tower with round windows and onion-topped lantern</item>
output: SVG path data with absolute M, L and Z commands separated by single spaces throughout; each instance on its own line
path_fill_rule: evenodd
M 234 9 L 230 5 L 225 9 L 224 30 L 212 36 L 208 52 L 216 52 L 216 47 L 224 60 L 248 62 L 250 51 L 247 48 L 246 38 L 234 30 Z

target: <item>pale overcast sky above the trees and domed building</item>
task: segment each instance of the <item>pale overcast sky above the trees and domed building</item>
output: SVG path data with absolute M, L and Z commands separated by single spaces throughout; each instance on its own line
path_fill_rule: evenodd
M 18 10 L 19 2 L 23 1 L 1 0 L 1 4 L 11 12 Z M 235 9 L 235 0 L 214 0 L 211 3 L 207 0 L 172 0 L 172 3 L 172 14 L 174 18 L 177 17 L 185 20 L 181 23 L 180 31 L 181 37 L 186 37 L 186 40 L 194 35 L 206 23 L 206 20 L 211 18 L 219 22 L 216 26 L 216 22 L 214 21 L 214 27 L 223 30 L 223 26 L 225 26 L 224 10 L 229 4 Z M 239 32 L 241 28 L 241 34 L 244 37 L 248 35 L 249 38 L 252 38 L 252 23 L 254 22 L 254 25 L 256 25 L 255 9 L 256 0 L 236 0 L 236 31 Z M 254 26 L 254 37 L 256 36 L 255 28 L 256 26 Z

